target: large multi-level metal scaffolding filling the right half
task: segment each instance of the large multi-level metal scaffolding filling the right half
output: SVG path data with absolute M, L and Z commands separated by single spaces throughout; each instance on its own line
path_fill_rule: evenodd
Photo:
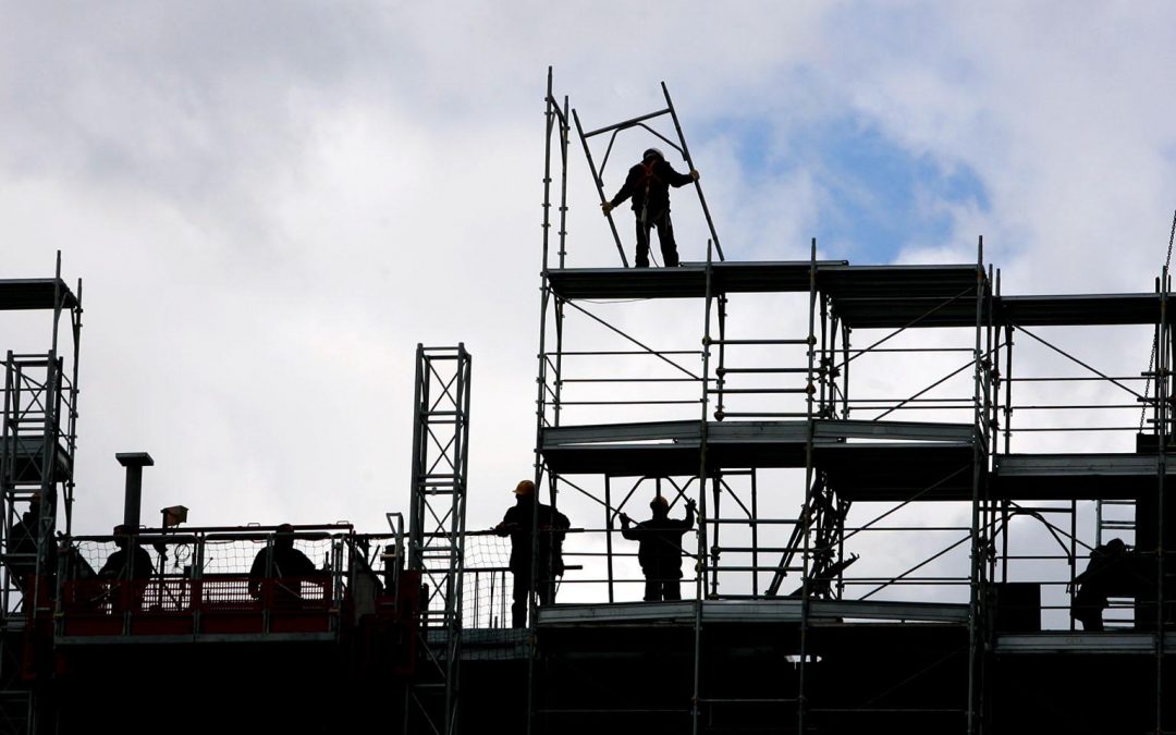
M 704 260 L 629 268 L 609 220 L 621 267 L 567 267 L 569 122 L 603 201 L 603 166 L 597 168 L 590 147 L 597 135 L 609 135 L 606 162 L 617 133 L 641 128 L 694 167 L 664 85 L 662 91 L 664 109 L 586 133 L 580 114 L 569 116 L 567 98 L 554 96 L 548 73 L 536 480 L 546 475 L 553 503 L 570 493 L 600 509 L 601 523 L 586 523 L 583 532 L 603 536 L 596 564 L 603 576 L 583 581 L 600 590 L 601 602 L 537 610 L 530 655 L 547 668 L 540 676 L 533 667 L 528 677 L 532 731 L 641 716 L 668 717 L 664 722 L 694 733 L 787 719 L 795 728 L 788 731 L 850 731 L 861 717 L 895 719 L 910 731 L 1002 731 L 1011 727 L 1016 697 L 994 686 L 994 671 L 1029 676 L 1042 655 L 1060 650 L 1131 656 L 1135 683 L 1140 655 L 1152 657 L 1152 675 L 1144 679 L 1155 687 L 1143 700 L 1152 713 L 1148 727 L 1162 731 L 1169 716 L 1162 632 L 1171 616 L 1163 550 L 1165 513 L 1171 513 L 1170 503 L 1167 512 L 1163 505 L 1169 470 L 1162 450 L 1169 443 L 1170 406 L 1162 396 L 1171 392 L 1172 347 L 1167 267 L 1154 293 L 1004 296 L 1000 273 L 984 263 L 982 239 L 975 262 L 961 265 L 851 266 L 820 260 L 815 240 L 808 261 L 739 262 L 719 250 L 701 187 L 709 230 Z M 677 143 L 650 127 L 661 115 L 673 119 Z M 553 201 L 556 178 L 561 186 Z M 560 213 L 555 258 L 553 206 Z M 789 320 L 776 312 L 771 321 L 754 325 L 759 333 L 736 332 L 730 305 L 743 296 L 791 296 L 791 313 L 804 316 Z M 701 305 L 693 329 L 683 303 Z M 1101 370 L 1047 334 L 1080 326 L 1152 329 L 1152 365 L 1137 375 Z M 913 334 L 922 343 L 902 341 Z M 868 346 L 854 347 L 851 335 L 867 335 Z M 1078 373 L 1014 375 L 1015 339 L 1024 343 L 1017 354 L 1043 349 Z M 688 347 L 691 342 L 701 348 Z M 862 375 L 857 382 L 868 385 L 886 382 L 880 373 L 911 372 L 913 361 L 943 373 L 897 396 L 871 393 L 869 386 L 850 390 L 851 367 Z M 869 362 L 882 367 L 868 369 Z M 1014 401 L 1015 386 L 1018 395 L 1036 396 L 1080 381 L 1111 386 L 1131 401 Z M 1135 381 L 1154 382 L 1154 395 L 1131 388 Z M 1087 414 L 1141 409 L 1148 415 L 1141 427 L 1150 426 L 1138 430 L 1128 452 L 1056 452 L 1071 432 L 1136 430 L 1123 421 L 1085 425 Z M 1053 426 L 1031 417 L 1050 412 L 1082 413 L 1076 423 Z M 594 414 L 606 417 L 593 420 Z M 1042 445 L 1053 450 L 1038 449 Z M 780 469 L 793 470 L 790 482 L 802 488 L 796 512 L 781 513 L 779 502 L 774 510 L 763 507 L 764 474 Z M 696 544 L 687 555 L 695 573 L 684 580 L 694 586 L 693 600 L 619 602 L 626 581 L 617 570 L 624 555 L 614 544 L 615 519 L 644 487 L 671 502 L 688 492 L 699 495 Z M 1088 502 L 1097 514 L 1094 537 L 1080 530 Z M 1134 517 L 1111 522 L 1111 508 L 1134 510 Z M 895 522 L 904 516 L 913 520 Z M 1144 529 L 1142 519 L 1158 524 Z M 1077 632 L 1070 610 L 1078 566 L 1108 529 L 1134 533 L 1131 553 L 1144 560 L 1137 575 L 1150 577 L 1151 592 L 1132 592 L 1134 602 L 1121 603 L 1134 620 L 1101 634 Z M 882 570 L 868 552 L 877 555 L 882 547 L 874 539 L 883 534 L 898 540 L 900 552 L 928 546 L 927 537 L 941 541 L 906 568 Z M 1042 536 L 1056 550 L 1025 552 L 1018 536 Z M 1045 579 L 1033 576 L 1047 566 Z M 791 592 L 784 588 L 789 579 Z M 570 684 L 556 674 L 568 682 L 587 677 L 561 667 L 572 657 L 566 647 L 588 646 L 568 632 L 589 621 L 602 628 L 686 626 L 669 648 L 690 652 L 682 663 L 691 675 L 667 686 L 674 691 L 663 700 L 653 695 L 657 704 L 621 694 L 592 702 L 569 695 Z M 787 661 L 789 671 L 774 686 L 733 679 L 723 668 L 736 621 L 761 624 L 787 641 L 775 660 Z M 853 629 L 837 621 L 874 624 Z M 1124 626 L 1132 622 L 1136 632 L 1151 633 L 1128 632 Z M 880 642 L 883 628 L 942 640 L 931 647 L 934 656 L 908 668 L 891 662 L 887 679 L 897 683 L 886 693 L 855 701 L 830 687 L 829 671 L 840 666 L 833 659 L 854 660 L 838 650 L 838 635 L 862 636 L 861 663 L 870 647 L 888 650 Z M 649 649 L 660 650 L 656 642 Z M 847 670 L 838 674 L 851 679 Z M 1132 701 L 1142 703 L 1141 696 Z

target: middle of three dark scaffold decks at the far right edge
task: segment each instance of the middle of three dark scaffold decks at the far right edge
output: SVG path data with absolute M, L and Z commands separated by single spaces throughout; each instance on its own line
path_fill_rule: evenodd
M 1154 493 L 1158 473 L 1154 454 L 997 454 L 993 489 L 1009 500 L 1129 500 Z

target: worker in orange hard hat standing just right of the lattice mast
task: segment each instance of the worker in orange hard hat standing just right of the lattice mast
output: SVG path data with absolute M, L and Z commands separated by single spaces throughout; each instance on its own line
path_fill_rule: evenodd
M 570 527 L 568 516 L 535 500 L 535 483 L 523 480 L 515 489 L 515 505 L 507 509 L 502 522 L 494 527 L 500 536 L 510 536 L 510 574 L 514 575 L 514 604 L 510 624 L 527 627 L 527 599 L 532 588 L 540 604 L 555 602 L 555 577 L 563 576 L 563 536 Z M 535 505 L 539 508 L 535 508 Z M 539 546 L 535 569 L 539 584 L 533 586 L 532 537 L 539 519 Z

